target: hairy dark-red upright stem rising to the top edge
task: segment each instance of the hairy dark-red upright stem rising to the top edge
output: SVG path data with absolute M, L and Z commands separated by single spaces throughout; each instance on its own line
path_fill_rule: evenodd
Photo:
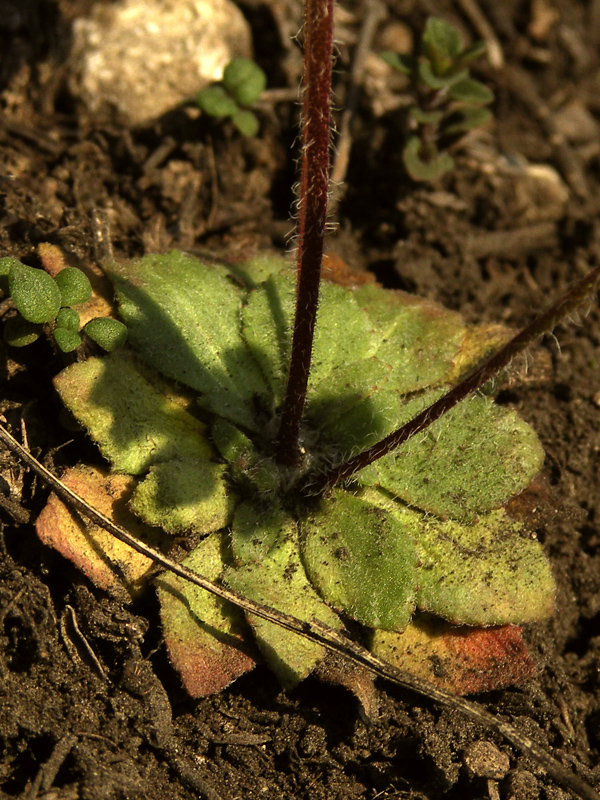
M 305 0 L 302 173 L 298 219 L 296 314 L 277 461 L 301 461 L 300 425 L 312 356 L 329 194 L 333 0 Z

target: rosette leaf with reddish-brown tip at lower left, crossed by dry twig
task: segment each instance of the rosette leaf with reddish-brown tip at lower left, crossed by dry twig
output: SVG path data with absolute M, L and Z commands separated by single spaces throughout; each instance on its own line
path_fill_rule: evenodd
M 211 581 L 225 569 L 223 536 L 209 536 L 182 564 Z M 242 612 L 188 581 L 157 578 L 162 631 L 169 659 L 192 697 L 220 692 L 256 661 Z

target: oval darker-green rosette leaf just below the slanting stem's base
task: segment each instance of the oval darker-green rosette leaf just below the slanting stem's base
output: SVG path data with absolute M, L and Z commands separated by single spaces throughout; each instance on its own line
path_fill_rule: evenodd
M 342 491 L 300 525 L 302 559 L 321 596 L 364 625 L 402 631 L 417 588 L 411 534 L 381 507 Z

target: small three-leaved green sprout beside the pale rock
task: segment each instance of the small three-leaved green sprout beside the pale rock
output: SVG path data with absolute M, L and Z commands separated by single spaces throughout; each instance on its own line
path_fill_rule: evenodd
M 206 114 L 217 119 L 230 117 L 242 136 L 256 136 L 260 123 L 251 106 L 267 85 L 267 76 L 250 58 L 234 58 L 227 64 L 223 79 L 202 89 L 196 102 Z

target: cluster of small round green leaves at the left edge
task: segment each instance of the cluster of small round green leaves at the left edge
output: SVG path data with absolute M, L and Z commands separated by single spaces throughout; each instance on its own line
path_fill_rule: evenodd
M 123 323 L 108 317 L 91 319 L 81 327 L 74 306 L 89 301 L 92 287 L 86 274 L 76 267 L 65 267 L 52 277 L 16 258 L 0 258 L 0 290 L 12 298 L 17 312 L 4 325 L 4 341 L 12 347 L 32 344 L 45 328 L 63 353 L 76 350 L 82 335 L 108 352 L 127 338 Z

